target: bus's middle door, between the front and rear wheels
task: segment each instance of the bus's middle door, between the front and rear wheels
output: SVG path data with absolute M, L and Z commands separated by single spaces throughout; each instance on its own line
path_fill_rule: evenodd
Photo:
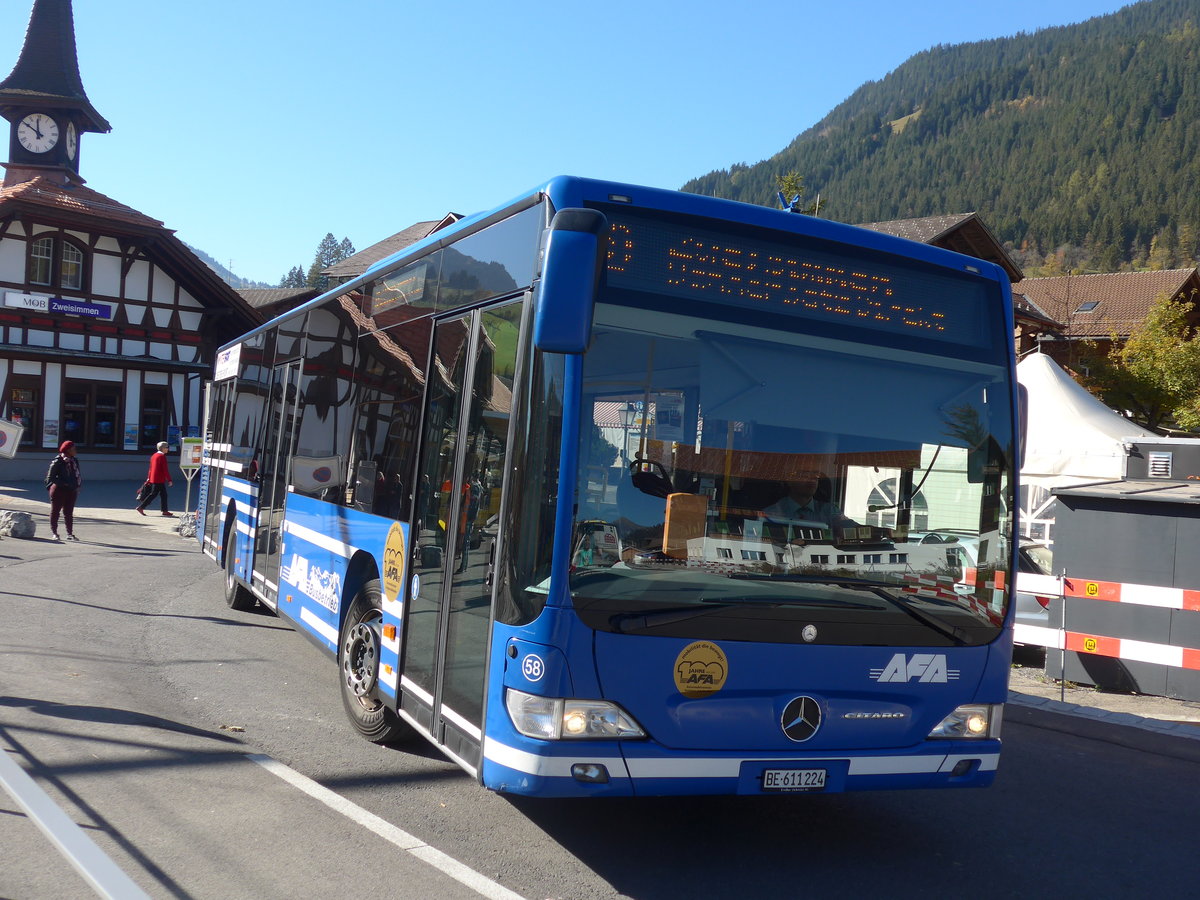
M 283 547 L 283 506 L 288 499 L 288 473 L 295 443 L 300 361 L 275 367 L 271 379 L 269 428 L 263 451 L 254 529 L 254 587 L 275 606 L 280 589 L 280 552 Z

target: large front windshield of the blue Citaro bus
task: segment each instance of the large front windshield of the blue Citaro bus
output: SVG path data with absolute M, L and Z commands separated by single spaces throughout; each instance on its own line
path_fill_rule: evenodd
M 946 281 L 998 323 L 998 292 Z M 1001 346 L 670 293 L 610 277 L 596 305 L 570 577 L 580 617 L 706 640 L 994 640 L 1012 508 Z

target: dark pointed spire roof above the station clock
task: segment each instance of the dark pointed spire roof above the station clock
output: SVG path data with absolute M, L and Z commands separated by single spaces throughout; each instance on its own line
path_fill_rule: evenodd
M 112 131 L 79 78 L 71 0 L 34 0 L 20 58 L 0 82 L 0 113 L 30 106 L 77 109 L 83 114 L 79 131 Z

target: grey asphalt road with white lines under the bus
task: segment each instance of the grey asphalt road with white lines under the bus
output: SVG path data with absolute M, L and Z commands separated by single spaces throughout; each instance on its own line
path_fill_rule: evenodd
M 42 515 L 11 487 L 0 509 Z M 985 791 L 487 793 L 422 744 L 354 736 L 332 665 L 227 610 L 172 524 L 89 508 L 78 544 L 0 541 L 0 749 L 151 896 L 1194 893 L 1200 740 L 1028 704 Z M 0 792 L 0 898 L 92 895 Z

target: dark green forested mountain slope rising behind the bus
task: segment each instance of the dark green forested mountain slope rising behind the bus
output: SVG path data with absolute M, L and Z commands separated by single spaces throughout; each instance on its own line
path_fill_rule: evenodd
M 1200 0 L 934 47 L 769 160 L 683 190 L 774 206 L 786 173 L 841 222 L 977 211 L 1027 274 L 1193 265 Z

